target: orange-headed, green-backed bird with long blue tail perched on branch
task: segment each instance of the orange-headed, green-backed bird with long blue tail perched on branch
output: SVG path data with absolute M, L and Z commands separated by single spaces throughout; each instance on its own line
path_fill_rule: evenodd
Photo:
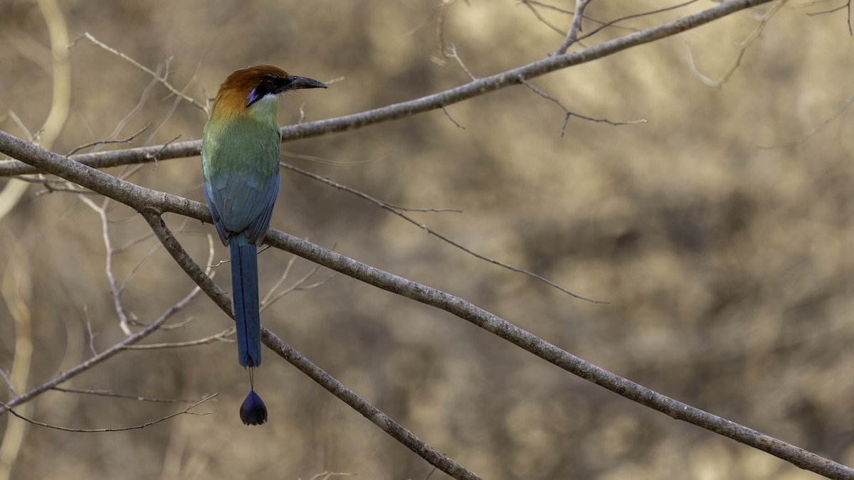
M 328 87 L 272 65 L 240 68 L 219 85 L 202 131 L 205 200 L 219 239 L 231 249 L 237 360 L 249 370 L 249 395 L 240 407 L 247 425 L 267 419 L 253 372 L 261 363 L 257 247 L 278 196 L 281 133 L 276 114 L 282 94 L 308 88 Z

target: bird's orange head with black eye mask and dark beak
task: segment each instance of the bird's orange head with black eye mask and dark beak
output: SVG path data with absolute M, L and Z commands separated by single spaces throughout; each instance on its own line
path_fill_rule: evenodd
M 264 97 L 278 97 L 285 91 L 301 88 L 328 87 L 317 80 L 289 75 L 272 65 L 243 67 L 219 85 L 211 116 L 239 114 Z

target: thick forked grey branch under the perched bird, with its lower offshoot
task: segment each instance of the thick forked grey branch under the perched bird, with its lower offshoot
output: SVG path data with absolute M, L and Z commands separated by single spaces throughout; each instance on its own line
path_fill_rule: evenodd
M 126 180 L 117 179 L 108 173 L 103 173 L 97 169 L 81 165 L 75 161 L 57 155 L 45 149 L 41 149 L 32 143 L 26 143 L 20 138 L 15 138 L 6 132 L 0 131 L 0 152 L 17 158 L 21 161 L 37 167 L 47 173 L 60 176 L 63 179 L 79 183 L 82 186 L 91 190 L 97 191 L 104 196 L 114 198 L 119 202 L 136 209 L 143 214 L 145 220 L 161 239 L 161 243 L 169 250 L 178 264 L 184 268 L 184 271 L 196 281 L 202 290 L 217 304 L 227 312 L 231 312 L 231 301 L 228 296 L 213 281 L 208 278 L 202 269 L 190 259 L 189 255 L 183 252 L 184 249 L 178 241 L 169 233 L 160 218 L 161 212 L 173 212 L 183 214 L 210 223 L 210 215 L 208 209 L 199 202 L 193 202 L 189 199 L 173 196 L 164 192 L 149 190 L 137 184 L 132 184 Z M 567 372 L 570 372 L 578 377 L 584 378 L 592 383 L 596 383 L 605 389 L 609 389 L 617 395 L 622 395 L 631 401 L 636 401 L 641 405 L 650 407 L 658 412 L 669 415 L 674 419 L 679 419 L 690 424 L 698 425 L 706 430 L 714 431 L 722 436 L 727 436 L 737 442 L 744 443 L 753 448 L 762 450 L 769 454 L 775 455 L 782 460 L 786 460 L 793 465 L 797 465 L 805 470 L 814 471 L 820 475 L 831 478 L 854 478 L 854 469 L 848 466 L 841 465 L 822 458 L 817 454 L 813 454 L 798 448 L 790 443 L 782 442 L 772 436 L 765 435 L 757 430 L 752 430 L 744 425 L 736 424 L 723 419 L 712 413 L 707 413 L 696 407 L 691 407 L 681 401 L 676 401 L 658 392 L 648 389 L 638 383 L 634 383 L 627 378 L 622 378 L 615 373 L 606 371 L 599 366 L 582 360 L 575 355 L 572 355 L 555 345 L 546 342 L 540 337 L 536 337 L 528 331 L 524 331 L 516 325 L 500 319 L 492 313 L 488 313 L 483 308 L 472 305 L 471 303 L 457 297 L 447 294 L 442 290 L 436 290 L 426 285 L 412 282 L 407 278 L 401 278 L 393 273 L 384 272 L 373 266 L 366 265 L 357 260 L 350 259 L 344 255 L 324 249 L 294 237 L 282 231 L 269 230 L 265 237 L 265 243 L 272 245 L 275 248 L 283 249 L 294 255 L 299 255 L 307 260 L 311 260 L 321 266 L 326 266 L 336 272 L 341 272 L 348 277 L 358 279 L 366 284 L 371 284 L 377 288 L 387 290 L 389 292 L 406 296 L 415 301 L 422 302 L 432 307 L 437 307 L 448 313 L 453 313 L 461 319 L 477 325 L 483 330 L 489 331 L 494 335 L 504 338 L 508 342 L 512 342 L 519 348 L 524 348 L 532 354 L 547 360 L 555 366 L 559 366 Z M 417 437 L 411 432 L 403 429 L 400 425 L 389 423 L 390 419 L 379 413 L 374 407 L 365 402 L 360 403 L 360 399 L 351 390 L 344 385 L 337 383 L 337 380 L 331 378 L 319 369 L 313 366 L 311 362 L 301 361 L 301 355 L 290 348 L 286 343 L 282 342 L 278 337 L 275 337 L 270 331 L 262 330 L 262 341 L 273 351 L 277 352 L 284 359 L 289 360 L 297 366 L 302 372 L 307 373 L 315 381 L 321 383 L 330 392 L 336 394 L 342 401 L 348 405 L 359 405 L 360 413 L 371 419 L 372 422 L 380 426 L 383 431 L 389 435 L 401 435 L 412 442 L 420 442 Z M 296 362 L 296 363 L 295 363 Z M 303 370 L 305 369 L 305 370 Z M 352 403 L 351 403 L 352 402 Z M 354 407 L 356 408 L 356 407 Z M 358 409 L 358 408 L 357 408 Z M 396 425 L 396 426 L 395 426 Z M 399 428 L 398 428 L 399 427 Z M 408 434 L 408 435 L 407 435 Z M 395 438 L 398 438 L 395 436 Z M 422 442 L 423 443 L 423 442 Z M 407 444 L 407 443 L 405 443 Z M 414 444 L 412 444 L 414 445 Z M 407 447 L 412 451 L 421 454 L 418 447 L 407 444 Z M 435 451 L 428 451 L 428 456 L 422 455 L 423 458 L 430 461 L 433 465 L 437 465 L 442 457 L 429 457 Z M 441 455 L 435 453 L 437 455 Z M 430 460 L 433 459 L 433 460 Z M 434 460 L 436 463 L 434 463 Z M 456 464 L 453 464 L 456 465 Z M 460 467 L 462 468 L 462 467 Z M 444 470 L 443 470 L 444 471 Z M 473 474 L 472 474 L 473 475 Z

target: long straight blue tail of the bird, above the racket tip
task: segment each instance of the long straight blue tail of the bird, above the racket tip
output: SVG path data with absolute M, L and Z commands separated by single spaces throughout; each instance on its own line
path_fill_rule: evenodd
M 258 249 L 243 233 L 231 237 L 231 296 L 237 322 L 237 360 L 261 364 L 261 317 L 258 307 Z

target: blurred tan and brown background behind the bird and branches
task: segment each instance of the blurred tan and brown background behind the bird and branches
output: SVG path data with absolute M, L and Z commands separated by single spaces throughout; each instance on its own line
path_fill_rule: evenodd
M 59 14 L 70 40 L 90 32 L 153 70 L 171 59 L 170 81 L 179 89 L 198 69 L 186 93 L 202 103 L 202 87 L 213 96 L 228 73 L 254 63 L 322 81 L 343 78 L 327 91 L 284 99 L 283 125 L 299 120 L 300 108 L 306 120 L 320 120 L 465 83 L 459 66 L 442 59 L 440 23 L 443 41 L 478 76 L 540 59 L 563 38 L 523 3 L 452 3 L 440 22 L 441 5 L 68 0 Z M 629 20 L 583 43 L 712 5 Z M 594 2 L 588 14 L 613 20 L 662 6 Z M 664 395 L 854 464 L 852 113 L 797 146 L 762 148 L 801 142 L 851 96 L 854 41 L 845 11 L 807 15 L 836 6 L 787 4 L 720 88 L 706 85 L 691 62 L 711 79 L 727 73 L 767 6 L 532 80 L 577 114 L 645 124 L 571 118 L 561 135 L 563 111 L 513 87 L 448 106 L 465 128 L 434 111 L 283 145 L 283 161 L 385 202 L 462 210 L 411 215 L 481 255 L 608 304 L 477 260 L 288 170 L 272 226 L 461 296 Z M 536 9 L 555 26 L 570 25 L 570 15 Z M 0 129 L 25 138 L 20 125 L 38 131 L 53 97 L 42 12 L 28 0 L 0 3 Z M 593 27 L 585 23 L 586 31 Z M 86 39 L 67 55 L 70 109 L 51 146 L 61 153 L 107 138 L 151 81 Z M 117 138 L 148 122 L 153 126 L 134 146 L 201 137 L 204 112 L 176 105 L 162 85 L 141 105 Z M 145 165 L 130 180 L 204 201 L 197 157 Z M 0 187 L 7 184 L 0 179 Z M 149 229 L 141 217 L 115 203 L 107 214 L 113 247 L 128 246 L 114 255 L 117 281 L 135 271 L 124 307 L 151 322 L 194 284 L 163 249 L 146 258 L 156 241 L 143 238 Z M 166 220 L 204 265 L 213 227 L 172 214 Z M 217 241 L 215 262 L 226 258 Z M 20 382 L 19 392 L 123 337 L 105 260 L 101 220 L 73 193 L 48 194 L 34 184 L 0 220 L 0 369 Z M 261 254 L 262 292 L 290 260 L 278 250 Z M 227 268 L 215 277 L 226 291 Z M 284 286 L 312 268 L 296 260 Z M 262 323 L 484 478 L 817 477 L 640 407 L 435 308 L 325 269 L 307 284 L 327 278 L 284 296 L 262 313 Z M 147 342 L 207 337 L 230 321 L 200 295 L 173 319 L 185 325 Z M 255 378 L 270 410 L 262 427 L 238 419 L 248 381 L 233 343 L 129 351 L 62 386 L 194 400 L 218 392 L 198 407 L 215 412 L 89 434 L 23 426 L 3 415 L 0 463 L 10 478 L 430 476 L 431 465 L 359 413 L 271 353 L 265 359 Z M 0 398 L 10 396 L 3 383 Z M 183 408 L 51 391 L 21 411 L 93 429 L 144 424 Z

